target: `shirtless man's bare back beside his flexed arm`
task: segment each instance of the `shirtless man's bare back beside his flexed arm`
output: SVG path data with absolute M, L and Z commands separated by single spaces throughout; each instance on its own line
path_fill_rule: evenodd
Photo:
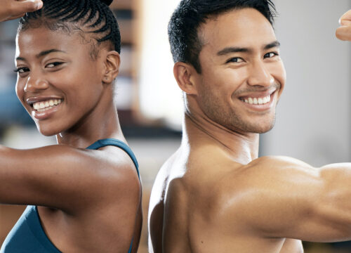
M 150 252 L 303 252 L 300 240 L 264 237 L 246 223 L 265 201 L 256 195 L 262 186 L 253 185 L 262 176 L 259 166 L 235 162 L 211 139 L 197 144 L 192 151 L 182 145 L 159 171 L 150 199 Z

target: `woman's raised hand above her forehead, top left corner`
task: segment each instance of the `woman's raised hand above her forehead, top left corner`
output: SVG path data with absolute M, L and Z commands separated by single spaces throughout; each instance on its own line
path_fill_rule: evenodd
M 20 18 L 25 13 L 37 11 L 43 6 L 41 0 L 0 0 L 0 21 Z

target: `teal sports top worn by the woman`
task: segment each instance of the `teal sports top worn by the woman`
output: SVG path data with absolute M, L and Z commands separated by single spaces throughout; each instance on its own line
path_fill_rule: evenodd
M 114 138 L 107 138 L 96 141 L 87 149 L 96 150 L 107 145 L 114 145 L 124 150 L 133 160 L 136 171 L 139 174 L 138 162 L 133 154 L 131 148 L 126 143 Z M 133 238 L 131 239 L 131 246 L 128 253 L 131 253 L 133 246 Z M 18 219 L 11 232 L 8 233 L 0 253 L 62 253 L 55 245 L 48 239 L 46 233 L 41 226 L 37 206 L 28 206 L 23 212 L 20 219 Z

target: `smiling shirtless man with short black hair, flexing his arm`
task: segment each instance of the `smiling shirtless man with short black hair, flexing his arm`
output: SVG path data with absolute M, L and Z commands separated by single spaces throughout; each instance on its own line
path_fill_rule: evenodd
M 173 13 L 185 122 L 152 189 L 150 252 L 297 253 L 301 240 L 351 239 L 351 164 L 258 158 L 286 81 L 272 16 L 269 0 L 183 0 Z

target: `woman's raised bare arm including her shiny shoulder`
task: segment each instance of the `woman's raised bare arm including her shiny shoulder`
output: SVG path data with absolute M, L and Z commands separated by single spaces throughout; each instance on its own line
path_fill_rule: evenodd
M 20 158 L 19 158 L 20 157 Z M 109 197 L 137 196 L 138 175 L 123 150 L 51 145 L 32 150 L 1 148 L 0 201 L 55 207 L 72 212 Z M 6 182 L 11 182 L 7 186 Z M 10 183 L 8 183 L 10 184 Z M 15 189 L 9 192 L 7 189 Z

